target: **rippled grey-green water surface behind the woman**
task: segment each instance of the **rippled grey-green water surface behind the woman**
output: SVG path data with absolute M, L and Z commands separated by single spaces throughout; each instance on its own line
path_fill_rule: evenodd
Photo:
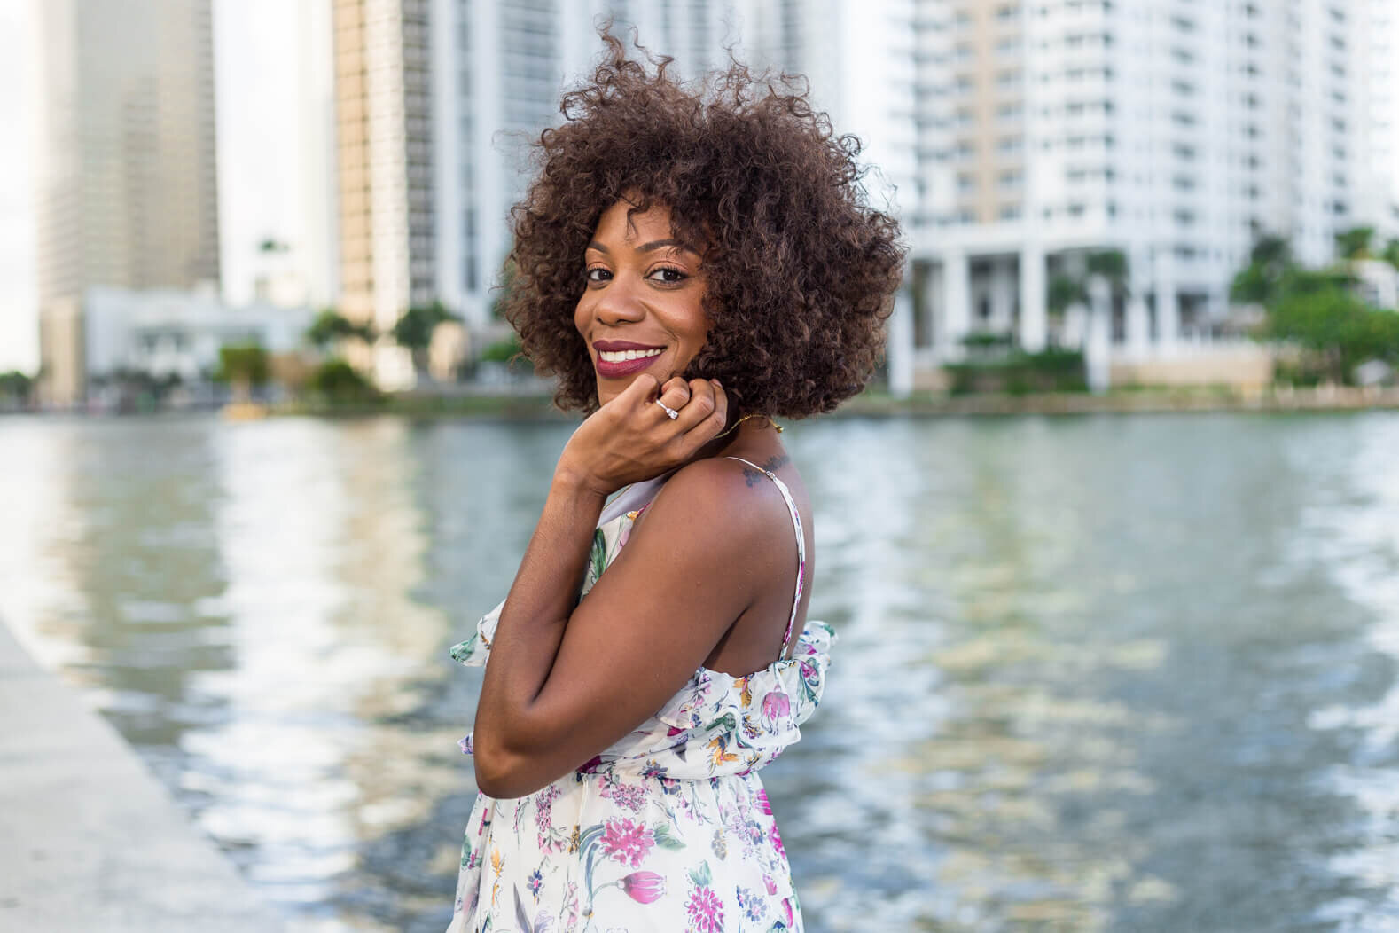
M 0 420 L 0 617 L 295 930 L 441 930 L 568 425 Z M 809 929 L 1399 930 L 1399 417 L 818 421 Z

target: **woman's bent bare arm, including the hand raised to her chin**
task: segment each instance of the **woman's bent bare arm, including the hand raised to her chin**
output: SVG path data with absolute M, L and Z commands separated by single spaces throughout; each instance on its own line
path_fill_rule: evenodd
M 733 575 L 743 567 L 736 537 L 753 525 L 737 513 L 746 483 L 737 469 L 702 460 L 670 480 L 625 551 L 574 604 L 606 494 L 684 463 L 723 427 L 722 392 L 706 380 L 690 383 L 674 421 L 648 400 L 653 390 L 655 380 L 638 379 L 560 457 L 477 706 L 477 785 L 490 796 L 530 793 L 634 729 L 750 601 Z

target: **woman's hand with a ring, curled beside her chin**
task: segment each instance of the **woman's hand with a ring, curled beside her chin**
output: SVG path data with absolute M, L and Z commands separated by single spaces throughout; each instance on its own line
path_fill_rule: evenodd
M 660 385 L 644 372 L 578 427 L 554 478 L 611 495 L 690 460 L 723 431 L 727 415 L 729 401 L 718 382 L 674 376 Z

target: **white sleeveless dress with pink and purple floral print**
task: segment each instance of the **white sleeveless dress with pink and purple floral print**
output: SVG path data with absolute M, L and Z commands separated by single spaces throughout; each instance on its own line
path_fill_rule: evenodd
M 796 529 L 796 599 L 779 660 L 746 677 L 701 667 L 655 716 L 576 772 L 518 800 L 478 795 L 448 933 L 802 930 L 757 771 L 800 739 L 835 636 L 807 622 L 783 657 L 806 576 L 802 519 L 786 485 L 754 469 L 776 483 Z M 583 596 L 644 511 L 603 513 Z M 452 649 L 457 662 L 487 663 L 501 606 Z M 471 754 L 470 736 L 462 750 Z

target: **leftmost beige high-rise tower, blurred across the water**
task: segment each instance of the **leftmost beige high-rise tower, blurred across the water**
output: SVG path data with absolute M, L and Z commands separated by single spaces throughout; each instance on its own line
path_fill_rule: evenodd
M 90 285 L 218 281 L 210 0 L 46 0 L 41 28 L 39 352 L 81 400 Z

